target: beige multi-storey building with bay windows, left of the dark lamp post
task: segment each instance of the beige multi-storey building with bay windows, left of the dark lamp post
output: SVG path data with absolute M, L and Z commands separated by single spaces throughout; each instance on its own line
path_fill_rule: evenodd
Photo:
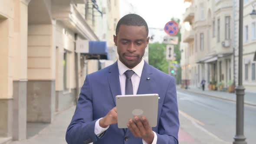
M 202 79 L 223 83 L 233 81 L 232 0 L 184 0 L 191 3 L 184 13 L 190 24 L 182 33 L 182 80 L 200 87 Z M 207 87 L 206 85 L 206 87 Z

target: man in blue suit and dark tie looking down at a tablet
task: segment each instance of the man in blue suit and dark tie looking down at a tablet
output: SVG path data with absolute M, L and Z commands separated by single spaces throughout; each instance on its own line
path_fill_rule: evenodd
M 122 17 L 114 42 L 118 60 L 85 78 L 75 114 L 66 132 L 68 144 L 178 144 L 179 118 L 175 80 L 144 62 L 148 25 L 136 14 Z M 147 118 L 128 120 L 128 129 L 117 126 L 116 95 L 152 94 L 160 97 L 158 123 Z M 145 101 L 146 103 L 147 101 Z

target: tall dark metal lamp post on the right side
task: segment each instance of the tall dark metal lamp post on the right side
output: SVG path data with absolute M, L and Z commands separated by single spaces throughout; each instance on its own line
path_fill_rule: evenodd
M 239 6 L 239 54 L 238 86 L 236 87 L 236 135 L 233 144 L 247 144 L 243 134 L 244 125 L 244 87 L 243 87 L 243 0 Z

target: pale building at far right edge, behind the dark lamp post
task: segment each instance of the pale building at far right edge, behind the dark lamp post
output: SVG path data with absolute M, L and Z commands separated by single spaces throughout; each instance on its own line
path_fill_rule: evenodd
M 249 13 L 252 12 L 252 4 L 256 0 L 244 0 L 243 7 L 243 86 L 246 91 L 256 92 L 256 19 L 252 19 Z M 238 27 L 239 27 L 239 1 L 236 0 L 235 23 L 236 33 L 234 34 L 234 43 L 236 48 L 236 82 L 238 82 Z

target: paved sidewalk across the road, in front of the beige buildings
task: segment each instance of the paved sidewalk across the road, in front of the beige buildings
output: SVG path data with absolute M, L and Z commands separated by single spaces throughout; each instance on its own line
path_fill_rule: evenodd
M 177 90 L 185 91 L 185 92 L 192 92 L 192 93 L 200 94 L 200 95 L 207 95 L 210 97 L 221 98 L 221 99 L 225 99 L 225 100 L 229 100 L 229 101 L 236 101 L 235 93 L 209 91 L 209 90 L 203 91 L 200 88 L 181 89 L 179 86 L 177 86 Z M 256 93 L 245 92 L 244 103 L 247 105 L 256 106 Z

